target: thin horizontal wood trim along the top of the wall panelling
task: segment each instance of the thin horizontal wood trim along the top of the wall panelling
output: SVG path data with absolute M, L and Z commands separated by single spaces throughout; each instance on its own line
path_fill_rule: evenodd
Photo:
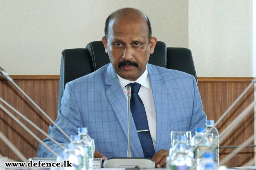
M 13 80 L 59 80 L 59 75 L 11 75 Z M 253 77 L 197 77 L 198 82 L 252 82 Z M 6 80 L 0 77 L 0 80 Z

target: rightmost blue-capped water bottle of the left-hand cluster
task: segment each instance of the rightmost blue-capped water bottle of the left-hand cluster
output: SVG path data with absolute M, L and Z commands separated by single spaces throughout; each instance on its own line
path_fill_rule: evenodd
M 91 139 L 87 132 L 87 128 L 78 128 L 78 136 L 81 140 L 81 144 L 88 150 L 88 161 L 85 161 L 87 164 L 87 170 L 93 170 L 95 145 L 93 139 Z

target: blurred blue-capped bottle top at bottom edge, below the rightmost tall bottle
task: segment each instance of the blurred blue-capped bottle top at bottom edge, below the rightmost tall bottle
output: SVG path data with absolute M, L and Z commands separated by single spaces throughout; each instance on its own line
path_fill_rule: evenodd
M 208 152 L 204 153 L 202 155 L 202 159 L 199 165 L 197 166 L 197 170 L 217 170 L 217 169 L 218 169 L 218 166 L 213 161 L 211 153 L 208 153 Z

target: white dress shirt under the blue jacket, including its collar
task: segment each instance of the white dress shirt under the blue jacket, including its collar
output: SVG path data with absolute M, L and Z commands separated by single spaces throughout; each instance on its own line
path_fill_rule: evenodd
M 149 81 L 148 77 L 148 67 L 146 67 L 146 70 L 144 73 L 135 81 L 130 81 L 123 79 L 117 74 L 117 77 L 119 79 L 119 82 L 121 84 L 122 90 L 125 93 L 125 86 L 129 83 L 137 82 L 141 84 L 141 88 L 139 89 L 139 97 L 141 98 L 145 110 L 146 110 L 146 115 L 147 115 L 147 120 L 148 120 L 148 128 L 150 131 L 150 135 L 153 141 L 154 148 L 156 150 L 156 109 L 155 109 L 155 103 L 154 103 L 154 98 L 153 98 L 153 93 L 152 93 L 152 87 Z M 138 132 L 140 133 L 140 132 Z

